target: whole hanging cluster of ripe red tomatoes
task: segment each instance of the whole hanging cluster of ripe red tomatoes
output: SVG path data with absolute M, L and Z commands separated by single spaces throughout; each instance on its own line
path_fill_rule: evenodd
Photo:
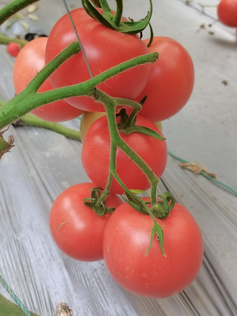
M 141 112 L 130 125 L 127 124 L 127 114 L 131 110 L 125 107 L 119 112 L 118 107 L 115 126 L 117 124 L 119 137 L 126 146 L 143 159 L 154 176 L 160 178 L 166 167 L 167 146 L 157 121 L 177 113 L 191 95 L 194 70 L 188 52 L 178 42 L 166 37 L 154 38 L 148 48 L 148 40 L 108 28 L 84 9 L 71 11 L 71 17 L 93 76 L 131 58 L 159 52 L 160 60 L 155 64 L 133 67 L 97 88 L 112 97 L 137 102 L 147 95 Z M 52 28 L 48 39 L 29 42 L 16 58 L 16 93 L 20 93 L 45 63 L 74 40 L 75 32 L 69 17 L 64 15 Z M 80 52 L 54 71 L 38 92 L 81 83 L 89 78 Z M 203 255 L 201 233 L 191 214 L 176 203 L 168 217 L 154 219 L 164 233 L 165 258 L 157 239 L 151 239 L 152 217 L 122 202 L 116 194 L 123 194 L 124 188 L 114 178 L 109 195 L 101 200 L 107 190 L 111 158 L 110 131 L 103 104 L 88 96 L 70 97 L 66 101 L 41 106 L 33 113 L 46 120 L 61 121 L 84 111 L 90 113 L 83 114 L 81 123 L 82 164 L 93 183 L 73 185 L 57 197 L 49 221 L 53 239 L 63 252 L 77 260 L 104 258 L 113 278 L 132 293 L 166 297 L 183 290 L 196 277 Z M 152 137 L 146 131 L 158 137 Z M 150 183 L 140 166 L 121 148 L 117 148 L 115 160 L 116 172 L 128 191 L 149 188 Z M 148 256 L 144 256 L 150 242 Z

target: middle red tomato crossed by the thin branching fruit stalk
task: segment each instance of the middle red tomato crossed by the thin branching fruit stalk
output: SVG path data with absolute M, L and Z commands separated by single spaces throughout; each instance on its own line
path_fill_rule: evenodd
M 119 118 L 117 119 L 119 122 Z M 136 125 L 148 127 L 159 134 L 161 131 L 149 120 L 137 116 Z M 137 152 L 160 178 L 167 162 L 166 141 L 158 140 L 141 133 L 125 135 L 124 141 Z M 161 134 L 162 135 L 162 134 Z M 88 177 L 100 188 L 105 188 L 109 172 L 110 136 L 107 117 L 97 119 L 89 128 L 82 145 L 82 165 Z M 149 182 L 145 174 L 122 150 L 117 149 L 117 173 L 129 189 L 147 190 Z M 113 179 L 111 192 L 122 194 L 124 189 Z

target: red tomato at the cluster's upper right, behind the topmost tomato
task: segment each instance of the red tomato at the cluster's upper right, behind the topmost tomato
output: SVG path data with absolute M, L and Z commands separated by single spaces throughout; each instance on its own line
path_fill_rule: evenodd
M 147 45 L 148 40 L 144 40 Z M 160 59 L 152 65 L 149 81 L 136 99 L 140 102 L 145 95 L 141 115 L 152 122 L 168 119 L 186 104 L 193 84 L 192 60 L 175 40 L 167 37 L 154 37 L 149 52 L 158 52 Z

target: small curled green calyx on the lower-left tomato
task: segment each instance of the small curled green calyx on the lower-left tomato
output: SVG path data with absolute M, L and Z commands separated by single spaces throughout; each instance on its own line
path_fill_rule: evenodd
M 84 198 L 83 202 L 86 206 L 94 210 L 94 212 L 99 216 L 104 216 L 107 213 L 112 213 L 115 207 L 106 207 L 106 196 L 101 195 L 100 188 L 92 188 L 91 197 Z

